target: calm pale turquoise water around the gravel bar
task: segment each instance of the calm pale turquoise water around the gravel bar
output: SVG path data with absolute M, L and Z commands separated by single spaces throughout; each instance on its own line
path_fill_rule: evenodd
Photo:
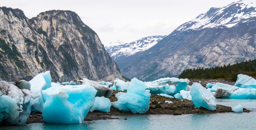
M 256 100 L 218 99 L 218 104 L 256 110 Z M 121 119 L 85 121 L 83 124 L 60 125 L 34 123 L 2 127 L 1 130 L 255 130 L 256 112 L 186 115 L 116 116 Z M 127 120 L 124 120 L 127 118 Z

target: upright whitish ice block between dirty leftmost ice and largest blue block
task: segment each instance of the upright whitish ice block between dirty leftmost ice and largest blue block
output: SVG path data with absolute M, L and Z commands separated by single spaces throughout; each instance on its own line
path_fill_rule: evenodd
M 31 108 L 32 111 L 43 112 L 43 104 L 45 101 L 43 100 L 42 91 L 50 88 L 51 82 L 52 78 L 50 71 L 40 73 L 36 75 L 33 79 L 31 79 L 31 81 L 29 81 L 29 83 L 31 84 L 31 92 L 39 95 L 38 98 L 33 100 L 33 105 Z

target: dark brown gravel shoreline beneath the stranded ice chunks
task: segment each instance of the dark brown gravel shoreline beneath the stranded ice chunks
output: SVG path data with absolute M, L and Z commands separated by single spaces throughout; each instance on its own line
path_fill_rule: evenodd
M 195 82 L 195 81 L 194 81 Z M 117 101 L 115 94 L 118 91 L 113 91 L 113 94 L 109 97 L 111 102 Z M 171 101 L 173 103 L 168 103 L 165 101 Z M 250 112 L 247 109 L 243 109 L 244 112 Z M 113 116 L 128 116 L 128 115 L 181 115 L 181 114 L 213 114 L 213 113 L 225 113 L 233 112 L 231 107 L 217 105 L 216 110 L 210 111 L 205 108 L 195 108 L 194 103 L 187 99 L 177 99 L 170 97 L 163 97 L 161 95 L 151 95 L 149 110 L 143 114 L 133 114 L 130 111 L 119 111 L 119 109 L 111 106 L 110 112 L 93 111 L 89 112 L 85 117 L 84 121 L 93 120 L 107 120 L 107 119 L 118 119 Z M 32 113 L 26 122 L 29 123 L 45 123 L 41 113 Z

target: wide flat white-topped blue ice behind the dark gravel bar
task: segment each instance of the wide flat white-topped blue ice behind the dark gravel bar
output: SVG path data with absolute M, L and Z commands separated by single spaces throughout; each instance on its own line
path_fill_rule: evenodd
M 168 83 L 171 83 L 171 85 L 168 85 Z M 188 79 L 178 78 L 161 78 L 152 82 L 145 82 L 146 86 L 150 90 L 150 93 L 164 93 L 172 96 L 176 93 L 180 93 L 181 90 L 186 90 L 188 83 Z

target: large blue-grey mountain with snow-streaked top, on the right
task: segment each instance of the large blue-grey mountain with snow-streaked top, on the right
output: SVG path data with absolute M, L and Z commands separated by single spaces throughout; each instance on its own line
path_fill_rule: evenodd
M 121 72 L 129 78 L 177 77 L 183 70 L 256 59 L 256 1 L 211 8 L 182 24 L 150 49 L 133 56 Z

